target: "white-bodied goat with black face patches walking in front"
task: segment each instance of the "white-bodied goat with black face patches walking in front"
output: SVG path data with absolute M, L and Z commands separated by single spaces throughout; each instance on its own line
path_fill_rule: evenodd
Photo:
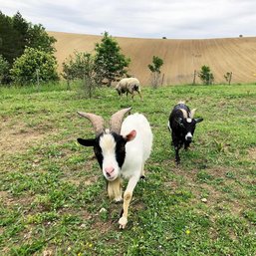
M 116 201 L 122 201 L 122 178 L 128 178 L 128 186 L 124 193 L 120 228 L 128 223 L 128 205 L 133 189 L 140 176 L 144 176 L 144 163 L 149 157 L 152 146 L 152 132 L 149 123 L 141 114 L 125 115 L 131 108 L 121 110 L 112 116 L 110 129 L 104 128 L 102 117 L 81 113 L 89 119 L 96 131 L 95 138 L 78 138 L 85 146 L 94 146 L 98 162 L 108 183 L 108 194 Z

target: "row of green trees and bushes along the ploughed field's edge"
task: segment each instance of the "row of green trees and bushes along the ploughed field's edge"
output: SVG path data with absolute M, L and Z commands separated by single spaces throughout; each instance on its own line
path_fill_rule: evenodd
M 43 25 L 27 22 L 19 12 L 9 17 L 1 11 L 0 24 L 0 85 L 59 80 L 54 56 L 57 40 L 48 35 Z M 68 88 L 74 81 L 82 81 L 83 89 L 90 97 L 96 87 L 110 87 L 115 81 L 131 77 L 128 74 L 130 59 L 122 54 L 119 43 L 108 32 L 103 34 L 94 50 L 94 54 L 74 52 L 63 63 L 61 74 L 67 80 Z M 158 56 L 153 56 L 152 63 L 147 65 L 153 88 L 163 83 L 164 74 L 160 76 L 162 65 L 163 60 Z M 230 74 L 227 76 L 225 78 L 230 83 Z M 202 66 L 198 77 L 206 85 L 214 80 L 207 66 Z

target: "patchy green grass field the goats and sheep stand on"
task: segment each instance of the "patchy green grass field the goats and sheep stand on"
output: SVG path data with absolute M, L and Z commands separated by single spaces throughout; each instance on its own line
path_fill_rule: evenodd
M 255 255 L 256 85 L 142 94 L 0 89 L 0 255 Z M 204 121 L 176 166 L 166 123 L 180 100 Z M 76 142 L 94 135 L 77 111 L 107 120 L 128 106 L 147 117 L 154 141 L 120 230 L 122 205 L 109 201 L 92 148 Z

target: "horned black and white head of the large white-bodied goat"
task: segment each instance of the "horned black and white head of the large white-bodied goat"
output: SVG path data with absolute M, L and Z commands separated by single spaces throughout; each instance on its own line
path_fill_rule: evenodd
M 120 134 L 125 115 L 131 108 L 121 110 L 111 118 L 110 127 L 104 128 L 102 117 L 81 113 L 79 115 L 89 119 L 96 131 L 95 138 L 78 138 L 78 142 L 85 146 L 94 146 L 95 155 L 107 180 L 113 181 L 120 176 L 120 170 L 125 162 L 126 143 L 132 140 L 136 131 L 131 130 L 127 135 Z

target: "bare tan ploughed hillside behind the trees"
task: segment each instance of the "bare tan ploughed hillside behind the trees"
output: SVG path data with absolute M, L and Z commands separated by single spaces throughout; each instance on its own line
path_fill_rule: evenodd
M 59 71 L 63 61 L 74 52 L 92 52 L 101 36 L 49 32 L 57 39 Z M 147 65 L 153 55 L 163 59 L 164 85 L 192 83 L 194 70 L 210 66 L 216 83 L 233 73 L 233 83 L 256 82 L 256 37 L 204 40 L 117 38 L 125 55 L 130 57 L 129 73 L 142 85 L 149 83 Z M 199 79 L 196 79 L 199 83 Z

